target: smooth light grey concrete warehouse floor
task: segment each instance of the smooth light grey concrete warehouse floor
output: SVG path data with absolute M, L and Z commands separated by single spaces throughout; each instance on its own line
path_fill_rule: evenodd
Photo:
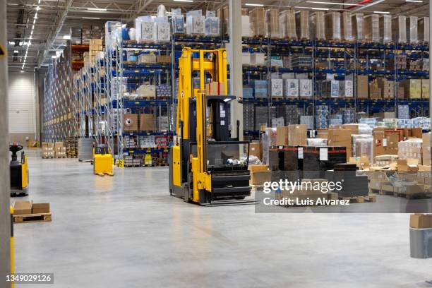
M 28 198 L 51 203 L 53 221 L 15 225 L 16 272 L 54 272 L 41 288 L 412 288 L 432 279 L 432 260 L 409 257 L 408 214 L 256 214 L 170 197 L 167 167 L 114 177 L 75 159 L 29 157 L 29 167 Z

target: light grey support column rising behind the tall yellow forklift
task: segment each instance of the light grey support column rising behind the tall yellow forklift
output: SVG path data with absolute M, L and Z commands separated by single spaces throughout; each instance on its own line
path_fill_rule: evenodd
M 243 99 L 243 68 L 241 66 L 241 1 L 229 0 L 229 80 L 231 95 Z M 240 121 L 239 139 L 243 140 L 243 105 L 237 101 L 231 104 L 231 126 L 236 135 L 236 123 Z

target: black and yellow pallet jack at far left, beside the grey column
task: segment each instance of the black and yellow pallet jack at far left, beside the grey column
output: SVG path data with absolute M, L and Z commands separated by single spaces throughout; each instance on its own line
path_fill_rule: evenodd
M 24 151 L 21 152 L 21 159 L 18 161 L 17 152 L 23 150 L 22 145 L 16 143 L 9 145 L 9 151 L 12 152 L 11 163 L 11 196 L 28 195 L 28 164 L 27 156 Z

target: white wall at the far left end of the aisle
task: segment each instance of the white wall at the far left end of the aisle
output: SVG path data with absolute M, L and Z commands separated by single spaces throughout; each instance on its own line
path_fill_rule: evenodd
M 8 120 L 11 142 L 28 145 L 36 139 L 36 107 L 35 73 L 10 72 L 8 74 Z

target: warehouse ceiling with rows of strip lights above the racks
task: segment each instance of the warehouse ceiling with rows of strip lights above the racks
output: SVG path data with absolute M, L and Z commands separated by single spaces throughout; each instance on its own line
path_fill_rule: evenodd
M 34 68 L 45 66 L 52 60 L 52 56 L 56 52 L 64 49 L 65 38 L 71 35 L 71 28 L 80 28 L 83 23 L 103 26 L 107 20 L 131 22 L 137 16 L 155 14 L 157 6 L 160 4 L 164 4 L 168 11 L 171 8 L 179 7 L 183 11 L 188 11 L 193 9 L 215 10 L 222 4 L 227 3 L 227 0 L 189 1 L 7 0 L 9 69 L 33 71 Z M 388 11 L 392 14 L 407 16 L 428 16 L 428 0 L 422 2 L 412 1 L 243 0 L 242 2 L 244 8 L 253 8 L 248 4 L 263 4 L 268 8 L 323 8 L 325 10 L 335 9 L 340 11 L 358 10 L 361 13 Z M 335 3 L 343 3 L 344 5 Z M 359 3 L 364 4 L 359 6 Z

